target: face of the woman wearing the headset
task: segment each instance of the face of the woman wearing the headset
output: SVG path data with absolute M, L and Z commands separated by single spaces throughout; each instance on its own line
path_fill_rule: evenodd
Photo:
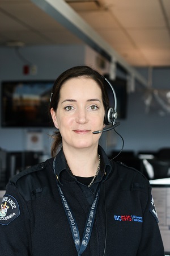
M 101 89 L 96 81 L 86 77 L 66 81 L 60 90 L 57 111 L 51 109 L 63 148 L 97 146 L 101 134 L 92 132 L 105 126 L 104 113 Z

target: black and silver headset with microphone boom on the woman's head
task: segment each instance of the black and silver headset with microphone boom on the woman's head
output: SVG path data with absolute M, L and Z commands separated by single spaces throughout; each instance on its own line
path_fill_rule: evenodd
M 104 77 L 104 79 L 107 81 L 109 86 L 112 89 L 113 97 L 114 97 L 114 108 L 108 108 L 107 112 L 105 112 L 105 117 L 104 117 L 104 124 L 105 125 L 112 125 L 108 128 L 105 128 L 101 131 L 94 131 L 93 134 L 97 133 L 103 133 L 104 131 L 109 131 L 114 129 L 116 126 L 120 125 L 120 122 L 116 123 L 117 119 L 117 98 L 116 98 L 116 93 L 114 92 L 113 86 L 111 83 Z

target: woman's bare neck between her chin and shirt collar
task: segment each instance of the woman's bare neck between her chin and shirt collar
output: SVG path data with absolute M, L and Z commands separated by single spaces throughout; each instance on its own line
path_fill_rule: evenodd
M 92 177 L 96 174 L 99 165 L 99 156 L 95 148 L 78 148 L 78 150 L 67 150 L 63 147 L 67 164 L 75 176 Z

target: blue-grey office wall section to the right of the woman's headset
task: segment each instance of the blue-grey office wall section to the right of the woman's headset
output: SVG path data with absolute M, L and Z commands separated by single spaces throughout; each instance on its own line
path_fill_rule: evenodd
M 138 68 L 143 76 L 148 77 L 147 68 Z M 170 90 L 170 68 L 154 68 L 152 71 L 152 88 Z M 146 88 L 135 82 L 135 92 L 129 94 L 128 118 L 121 120 L 118 131 L 124 137 L 125 150 L 157 151 L 161 147 L 170 147 L 170 113 L 152 100 L 147 110 L 145 100 L 148 96 Z M 118 139 L 116 149 L 121 148 L 121 139 Z

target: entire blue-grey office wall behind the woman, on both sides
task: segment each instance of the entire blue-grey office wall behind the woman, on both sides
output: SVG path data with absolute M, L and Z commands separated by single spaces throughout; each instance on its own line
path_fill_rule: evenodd
M 0 48 L 0 82 L 3 80 L 33 80 L 56 79 L 67 68 L 74 65 L 85 64 L 86 48 L 84 46 L 39 46 L 25 47 L 20 53 L 32 64 L 37 65 L 36 75 L 23 75 L 22 60 L 14 49 Z M 86 64 L 88 60 L 86 59 Z M 93 63 L 94 64 L 94 63 Z M 144 76 L 148 76 L 147 69 L 138 69 Z M 120 73 L 119 73 L 120 75 Z M 170 68 L 155 68 L 152 73 L 155 88 L 170 89 Z M 125 141 L 125 150 L 151 150 L 156 151 L 160 147 L 170 146 L 170 114 L 160 114 L 160 108 L 156 106 L 146 112 L 146 90 L 137 81 L 135 92 L 128 97 L 127 118 L 120 120 L 121 125 L 116 128 Z M 29 129 L 30 130 L 30 129 Z M 33 129 L 34 130 L 34 129 Z M 25 137 L 28 129 L 6 129 L 0 127 L 0 147 L 7 151 L 25 150 Z M 44 154 L 49 154 L 50 137 L 52 129 L 42 129 L 44 141 Z M 106 136 L 106 135 L 104 135 Z M 122 146 L 121 138 L 112 130 L 109 136 L 111 148 L 119 150 Z M 116 141 L 116 143 L 114 143 Z M 116 146 L 115 146 L 116 144 Z M 111 150 L 111 148 L 108 149 Z

